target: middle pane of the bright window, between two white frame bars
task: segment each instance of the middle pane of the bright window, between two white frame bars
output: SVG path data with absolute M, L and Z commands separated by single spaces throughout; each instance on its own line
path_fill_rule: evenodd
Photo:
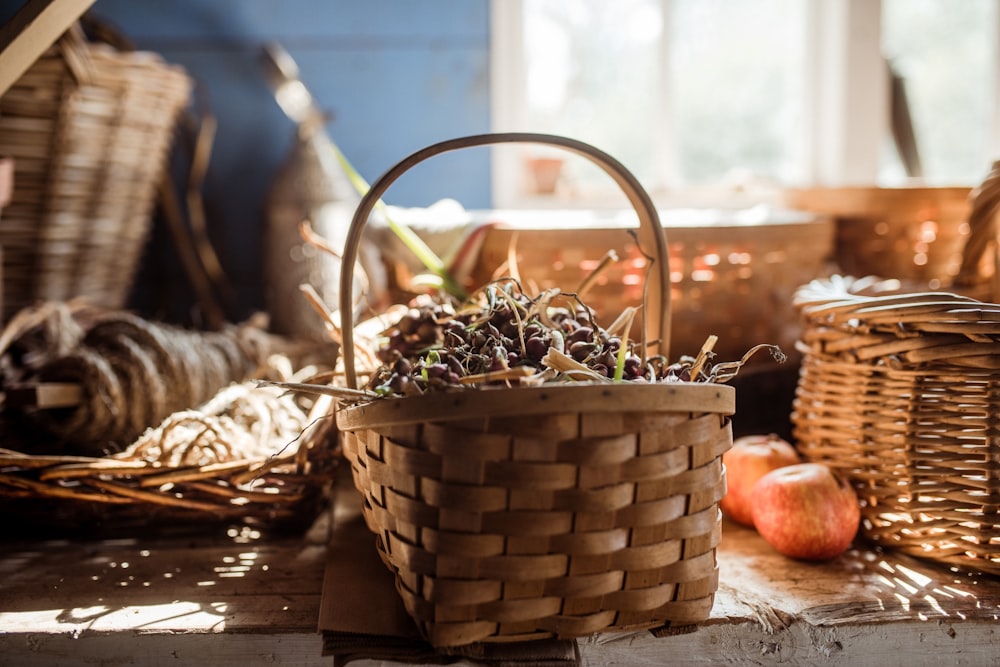
M 673 0 L 671 103 L 678 173 L 788 180 L 803 126 L 802 0 Z

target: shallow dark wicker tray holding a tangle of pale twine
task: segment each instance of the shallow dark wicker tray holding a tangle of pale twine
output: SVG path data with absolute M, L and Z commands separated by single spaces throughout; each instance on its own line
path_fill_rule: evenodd
M 8 534 L 93 538 L 234 524 L 307 528 L 327 501 L 339 456 L 330 420 L 317 419 L 324 406 L 310 421 L 310 411 L 296 410 L 283 393 L 233 384 L 109 456 L 0 448 L 0 511 Z

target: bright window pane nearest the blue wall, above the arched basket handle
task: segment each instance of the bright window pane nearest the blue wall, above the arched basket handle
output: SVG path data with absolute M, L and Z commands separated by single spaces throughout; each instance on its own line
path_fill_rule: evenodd
M 660 0 L 525 0 L 523 16 L 524 127 L 587 141 L 658 180 Z M 567 166 L 574 187 L 608 187 L 586 163 Z

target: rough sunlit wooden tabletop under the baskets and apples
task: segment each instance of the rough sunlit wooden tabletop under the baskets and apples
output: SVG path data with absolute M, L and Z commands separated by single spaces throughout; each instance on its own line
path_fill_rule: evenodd
M 333 664 L 317 626 L 331 525 L 324 516 L 298 536 L 233 529 L 8 542 L 0 546 L 0 663 Z M 697 630 L 580 639 L 580 664 L 1000 659 L 996 578 L 864 545 L 828 563 L 800 563 L 728 522 L 718 561 L 712 616 Z

